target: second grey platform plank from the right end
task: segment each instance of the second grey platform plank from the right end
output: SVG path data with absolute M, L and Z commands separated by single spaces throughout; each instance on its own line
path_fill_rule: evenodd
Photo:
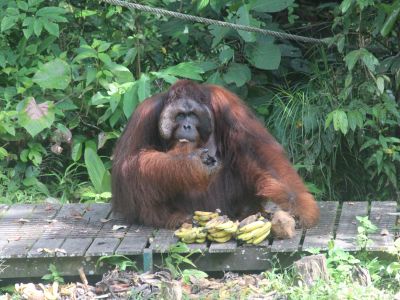
M 357 251 L 357 216 L 368 214 L 368 202 L 343 202 L 336 231 L 335 245 L 343 250 Z

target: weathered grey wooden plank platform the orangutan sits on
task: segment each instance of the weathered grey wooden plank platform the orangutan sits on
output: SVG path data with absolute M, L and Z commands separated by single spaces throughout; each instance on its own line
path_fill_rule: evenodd
M 370 236 L 369 251 L 383 252 L 393 245 L 398 213 L 395 201 L 320 202 L 318 227 L 298 230 L 291 240 L 269 240 L 259 246 L 194 244 L 203 250 L 194 262 L 205 271 L 265 270 L 274 257 L 290 259 L 307 249 L 327 249 L 328 241 L 348 251 L 358 251 L 356 216 L 369 215 L 378 226 Z M 383 230 L 383 231 L 382 231 Z M 385 233 L 384 235 L 381 233 Z M 132 225 L 115 218 L 108 204 L 0 205 L 0 259 L 8 266 L 0 278 L 36 277 L 48 273 L 54 263 L 62 275 L 101 273 L 96 267 L 103 255 L 123 254 L 141 269 L 161 265 L 162 256 L 177 242 L 173 231 Z M 164 254 L 163 254 L 164 253 Z

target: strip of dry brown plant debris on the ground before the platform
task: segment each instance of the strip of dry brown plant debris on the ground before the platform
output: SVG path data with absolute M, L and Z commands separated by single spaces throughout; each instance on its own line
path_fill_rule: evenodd
M 16 293 L 23 299 L 279 299 L 271 291 L 263 274 L 225 273 L 222 278 L 174 279 L 169 271 L 136 273 L 113 270 L 103 275 L 95 286 L 83 283 L 16 284 Z M 7 298 L 4 298 L 7 299 Z M 9 298 L 11 299 L 11 298 Z M 3 299 L 1 299 L 3 300 Z M 8 300 L 8 299 L 7 299 Z

